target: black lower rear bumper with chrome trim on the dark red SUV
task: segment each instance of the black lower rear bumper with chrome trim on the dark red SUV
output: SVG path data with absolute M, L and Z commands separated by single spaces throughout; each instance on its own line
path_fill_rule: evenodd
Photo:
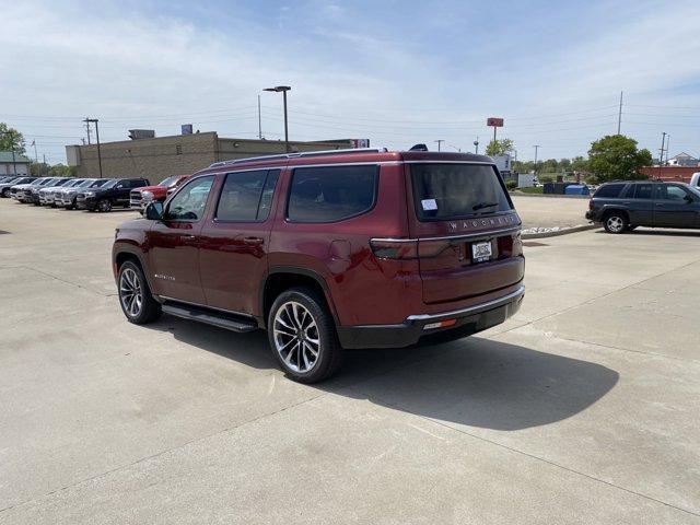
M 401 348 L 430 339 L 458 339 L 500 325 L 521 307 L 525 287 L 515 292 L 468 308 L 439 314 L 410 315 L 399 325 L 339 326 L 338 338 L 343 348 Z M 447 328 L 429 328 L 441 320 L 456 319 Z M 435 337 L 433 337 L 435 336 Z

